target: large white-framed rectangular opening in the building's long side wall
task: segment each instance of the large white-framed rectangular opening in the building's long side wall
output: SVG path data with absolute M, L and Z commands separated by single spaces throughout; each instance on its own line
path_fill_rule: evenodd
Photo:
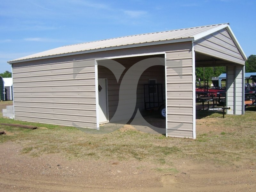
M 121 128 L 124 124 L 131 124 L 140 131 L 165 134 L 166 119 L 161 118 L 158 111 L 166 104 L 164 56 L 155 54 L 97 60 L 98 82 L 100 79 L 107 82 L 109 123 L 101 128 L 109 129 L 114 124 Z M 158 58 L 162 58 L 161 61 Z M 113 72 L 111 65 L 119 66 L 119 71 Z M 119 73 L 119 76 L 114 73 Z M 100 104 L 100 97 L 98 100 Z M 118 129 L 118 126 L 113 126 L 113 129 Z

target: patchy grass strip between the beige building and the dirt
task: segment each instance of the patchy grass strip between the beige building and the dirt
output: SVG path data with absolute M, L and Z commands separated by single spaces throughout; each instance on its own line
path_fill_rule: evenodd
M 249 109 L 249 108 L 248 108 Z M 157 168 L 164 173 L 172 170 L 173 162 L 187 158 L 198 162 L 233 164 L 242 158 L 256 163 L 256 129 L 254 108 L 243 116 L 209 113 L 199 114 L 203 131 L 197 130 L 196 140 L 166 138 L 164 135 L 134 130 L 93 134 L 75 127 L 14 121 L 1 118 L 2 123 L 27 124 L 47 129 L 29 130 L 0 125 L 0 143 L 13 141 L 22 146 L 21 155 L 32 157 L 43 154 L 61 154 L 68 159 L 136 160 L 147 161 L 167 168 Z M 208 128 L 209 127 L 209 128 Z M 213 129 L 214 128 L 214 129 Z M 216 129 L 216 130 L 215 130 Z M 93 130 L 95 131 L 95 130 Z

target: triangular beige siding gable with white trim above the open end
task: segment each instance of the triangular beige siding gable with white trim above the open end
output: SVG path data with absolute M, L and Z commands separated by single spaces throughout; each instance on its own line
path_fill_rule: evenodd
M 196 41 L 195 51 L 244 65 L 243 56 L 226 29 Z

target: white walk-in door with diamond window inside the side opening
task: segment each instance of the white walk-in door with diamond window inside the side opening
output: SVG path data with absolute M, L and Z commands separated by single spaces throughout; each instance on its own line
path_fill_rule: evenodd
M 107 79 L 98 79 L 99 91 L 99 122 L 108 122 L 108 89 Z

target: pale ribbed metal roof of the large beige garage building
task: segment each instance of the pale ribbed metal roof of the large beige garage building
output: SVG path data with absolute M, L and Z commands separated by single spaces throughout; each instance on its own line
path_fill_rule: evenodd
M 194 28 L 184 28 L 171 31 L 146 33 L 140 35 L 117 37 L 112 39 L 93 41 L 58 47 L 44 52 L 28 55 L 19 59 L 8 61 L 9 64 L 28 60 L 46 59 L 88 52 L 100 52 L 121 48 L 140 47 L 154 44 L 177 43 L 196 41 L 218 30 L 229 27 L 228 23 L 208 25 Z M 239 45 L 239 44 L 238 44 Z

